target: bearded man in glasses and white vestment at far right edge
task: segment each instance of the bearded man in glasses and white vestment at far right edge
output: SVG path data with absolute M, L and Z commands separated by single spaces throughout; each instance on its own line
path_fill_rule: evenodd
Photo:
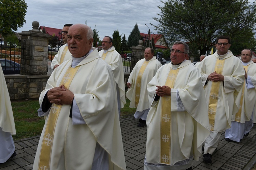
M 253 52 L 250 49 L 241 51 L 241 62 L 245 70 L 245 81 L 237 99 L 240 100 L 238 113 L 232 116 L 231 128 L 226 130 L 225 140 L 240 142 L 248 136 L 253 127 L 253 113 L 256 103 L 256 64 L 251 61 Z

